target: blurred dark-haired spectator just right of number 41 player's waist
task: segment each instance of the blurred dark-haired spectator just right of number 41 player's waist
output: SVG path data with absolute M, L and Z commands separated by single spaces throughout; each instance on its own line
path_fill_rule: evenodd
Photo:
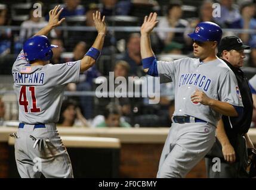
M 58 126 L 90 126 L 78 105 L 72 99 L 64 100 L 60 109 Z

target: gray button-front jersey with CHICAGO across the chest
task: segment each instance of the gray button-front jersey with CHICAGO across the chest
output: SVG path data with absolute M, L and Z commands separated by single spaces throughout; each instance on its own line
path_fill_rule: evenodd
M 243 106 L 235 74 L 221 59 L 202 63 L 199 59 L 183 58 L 158 61 L 157 66 L 158 74 L 168 75 L 175 84 L 174 116 L 189 115 L 217 125 L 220 113 L 191 101 L 196 88 L 212 99 Z

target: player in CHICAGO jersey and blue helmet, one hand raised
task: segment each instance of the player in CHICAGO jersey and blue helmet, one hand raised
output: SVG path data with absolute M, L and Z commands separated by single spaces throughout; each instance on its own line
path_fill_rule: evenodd
M 238 116 L 243 110 L 236 77 L 215 55 L 222 31 L 202 22 L 189 36 L 196 58 L 157 61 L 150 46 L 150 32 L 157 14 L 144 18 L 141 26 L 141 57 L 144 71 L 166 75 L 175 85 L 172 126 L 159 162 L 158 178 L 184 178 L 203 159 L 215 142 L 215 127 L 221 115 Z

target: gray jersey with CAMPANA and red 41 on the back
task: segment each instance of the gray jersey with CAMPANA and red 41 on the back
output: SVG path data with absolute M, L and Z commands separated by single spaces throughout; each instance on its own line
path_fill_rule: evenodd
M 24 124 L 56 123 L 60 115 L 64 88 L 78 82 L 81 60 L 65 64 L 30 66 L 21 50 L 12 73 Z

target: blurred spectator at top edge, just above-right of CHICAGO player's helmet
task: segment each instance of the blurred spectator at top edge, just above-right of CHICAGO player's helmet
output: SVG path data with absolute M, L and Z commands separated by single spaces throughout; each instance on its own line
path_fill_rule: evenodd
M 214 20 L 227 27 L 238 28 L 232 24 L 241 18 L 238 5 L 234 4 L 233 0 L 220 0 L 220 5 L 221 17 L 216 17 Z

